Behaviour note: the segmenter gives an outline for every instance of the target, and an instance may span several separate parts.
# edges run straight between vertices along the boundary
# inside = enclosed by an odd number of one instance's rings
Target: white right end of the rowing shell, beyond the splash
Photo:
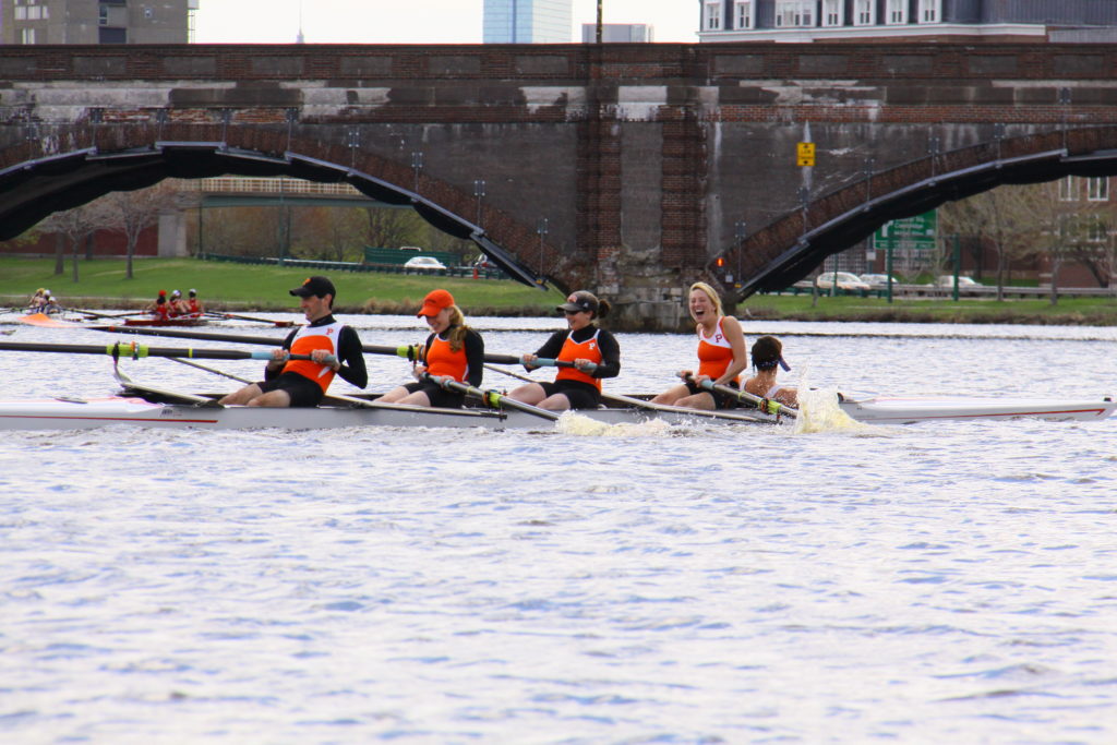
[[[951,397],[846,400],[841,409],[858,421],[878,424],[914,424],[924,421],[1047,419],[1096,421],[1117,409],[1110,399],[1046,401],[1033,399],[962,399]]]

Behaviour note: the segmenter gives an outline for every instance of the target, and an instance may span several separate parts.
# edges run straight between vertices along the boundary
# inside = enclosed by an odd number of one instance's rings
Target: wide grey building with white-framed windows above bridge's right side
[[[1115,0],[699,0],[698,4],[700,41],[1114,41],[1104,31],[1117,27]],[[1102,38],[1094,38],[1099,30]]]

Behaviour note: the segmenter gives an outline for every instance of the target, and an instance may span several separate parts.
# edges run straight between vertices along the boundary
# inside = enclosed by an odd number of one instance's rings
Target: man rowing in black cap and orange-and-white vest
[[[369,384],[364,353],[356,332],[335,321],[337,290],[326,277],[308,277],[290,290],[309,322],[299,326],[274,350],[264,380],[249,383],[221,399],[222,404],[250,407],[316,407],[334,375],[357,388]],[[308,354],[311,360],[289,360],[289,354]]]

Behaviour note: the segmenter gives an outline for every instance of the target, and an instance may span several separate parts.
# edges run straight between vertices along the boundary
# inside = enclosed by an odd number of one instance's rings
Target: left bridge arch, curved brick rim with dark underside
[[[471,240],[525,285],[545,289],[547,279],[560,286],[569,284],[562,277],[534,271],[515,251],[493,240],[486,229],[461,217],[472,209],[472,199],[445,181],[356,147],[293,137],[274,127],[197,128],[200,131],[188,139],[165,139],[147,125],[85,124],[54,130],[46,137],[28,136],[0,150],[0,240],[19,236],[54,212],[169,178],[287,175],[347,183],[378,202],[410,207],[442,232]],[[397,185],[412,179],[416,190]],[[494,208],[486,208],[483,214],[484,222],[499,223],[502,235],[516,245],[531,246],[536,238],[534,230]],[[548,248],[542,246],[536,255]]]

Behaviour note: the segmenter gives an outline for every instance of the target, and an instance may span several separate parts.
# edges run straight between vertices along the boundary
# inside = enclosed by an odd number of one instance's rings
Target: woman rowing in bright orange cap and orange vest
[[[465,394],[443,389],[436,380],[447,378],[477,388],[485,372],[485,342],[466,325],[465,315],[454,296],[445,289],[431,290],[422,302],[418,317],[430,326],[430,336],[419,352],[414,383],[394,388],[380,401],[418,407],[459,409]]]

